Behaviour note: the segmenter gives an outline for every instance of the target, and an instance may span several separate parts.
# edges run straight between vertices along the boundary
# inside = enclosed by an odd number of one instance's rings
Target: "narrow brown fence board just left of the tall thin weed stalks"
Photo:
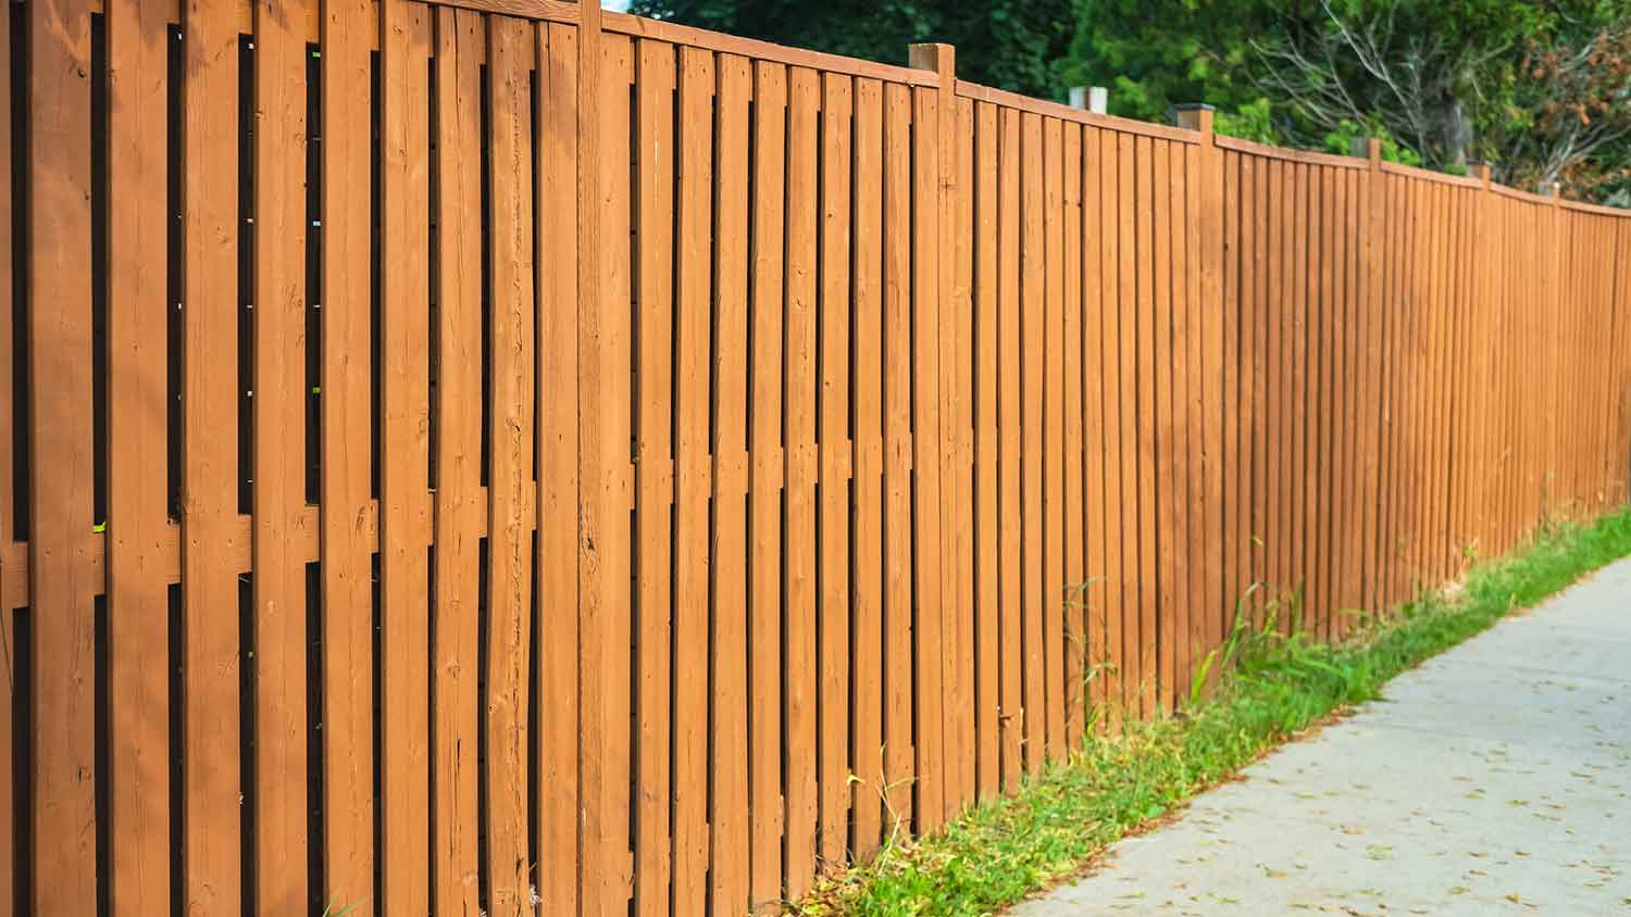
[[[1041,650],[1045,707],[1044,748],[1057,761],[1065,751],[1065,251],[1063,137],[1057,119],[1042,122],[1042,591]]]

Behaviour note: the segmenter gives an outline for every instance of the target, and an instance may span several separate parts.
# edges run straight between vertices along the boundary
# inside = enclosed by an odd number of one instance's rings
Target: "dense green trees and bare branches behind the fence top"
[[[634,0],[641,15],[900,64],[957,46],[959,77],[1111,111],[1218,107],[1228,134],[1631,205],[1631,0]]]

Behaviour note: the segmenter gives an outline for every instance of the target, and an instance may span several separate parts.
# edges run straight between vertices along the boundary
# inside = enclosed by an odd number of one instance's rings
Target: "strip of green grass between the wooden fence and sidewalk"
[[[1070,761],[923,840],[897,839],[873,863],[825,880],[806,917],[990,914],[1080,871],[1119,837],[1228,779],[1269,748],[1515,608],[1631,554],[1631,510],[1551,524],[1512,555],[1476,565],[1453,598],[1434,593],[1331,647],[1236,627],[1212,663],[1220,684],[1186,715],[1090,736]],[[1204,678],[1204,676],[1202,676]]]

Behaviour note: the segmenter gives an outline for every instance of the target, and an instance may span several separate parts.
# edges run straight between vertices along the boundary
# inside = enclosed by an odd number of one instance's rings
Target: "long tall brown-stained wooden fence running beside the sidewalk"
[[[943,46],[5,13],[20,915],[771,906],[1624,498],[1608,210]]]

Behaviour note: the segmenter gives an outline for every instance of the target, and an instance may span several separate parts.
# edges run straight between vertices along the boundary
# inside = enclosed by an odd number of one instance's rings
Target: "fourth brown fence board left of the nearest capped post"
[[[783,555],[783,769],[786,845],[783,897],[801,901],[816,875],[817,811],[817,117],[820,85],[814,70],[788,75],[786,251],[783,264],[783,441],[785,555]]]

